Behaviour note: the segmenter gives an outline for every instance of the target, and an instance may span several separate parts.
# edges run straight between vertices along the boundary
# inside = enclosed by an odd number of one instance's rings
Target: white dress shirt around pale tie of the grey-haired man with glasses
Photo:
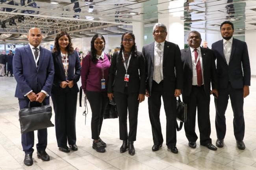
[[[161,80],[163,80],[163,50],[161,52],[161,55],[158,55],[158,42],[155,41],[154,45],[154,71],[153,71],[153,80],[156,81],[156,69],[159,69],[160,67],[160,75]],[[164,49],[165,41],[160,43],[162,46],[162,49]],[[156,60],[160,60],[160,63],[156,62]],[[160,64],[160,65],[159,65]]]

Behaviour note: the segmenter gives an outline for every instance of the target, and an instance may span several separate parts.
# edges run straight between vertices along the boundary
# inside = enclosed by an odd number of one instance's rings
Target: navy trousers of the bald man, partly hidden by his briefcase
[[[29,101],[30,100],[27,97],[25,97],[24,99],[19,98],[20,109],[27,108]],[[43,101],[43,104],[49,105],[49,103],[50,103],[50,100],[48,97],[46,97]],[[41,104],[38,102],[32,102],[30,106],[37,107],[37,106],[41,106]],[[36,145],[37,151],[45,150],[47,146],[47,128],[37,130],[37,139],[38,139],[38,143]],[[33,154],[34,141],[35,141],[34,131],[21,134],[21,144],[25,154]]]

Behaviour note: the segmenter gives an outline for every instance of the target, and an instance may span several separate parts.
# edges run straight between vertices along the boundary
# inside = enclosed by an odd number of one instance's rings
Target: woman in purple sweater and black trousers
[[[91,52],[82,61],[82,89],[91,106],[91,134],[93,149],[105,152],[106,143],[100,139],[103,114],[108,105],[107,82],[110,61],[105,54],[105,39],[101,34],[95,34],[91,40]]]

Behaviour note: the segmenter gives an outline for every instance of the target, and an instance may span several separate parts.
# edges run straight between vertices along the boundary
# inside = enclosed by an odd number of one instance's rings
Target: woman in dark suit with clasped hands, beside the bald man
[[[69,34],[57,34],[53,49],[54,83],[52,103],[55,112],[55,130],[59,150],[70,152],[76,146],[76,101],[79,92],[76,82],[80,78],[81,65],[78,53],[74,51]]]

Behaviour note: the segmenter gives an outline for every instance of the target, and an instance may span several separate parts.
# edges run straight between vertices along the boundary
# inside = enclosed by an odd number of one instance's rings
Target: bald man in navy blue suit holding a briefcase
[[[32,102],[31,107],[39,106],[42,102],[49,105],[54,78],[52,54],[39,45],[42,40],[40,29],[31,28],[27,37],[29,44],[17,48],[13,57],[13,73],[17,81],[15,97],[19,99],[20,109],[26,108],[29,101]],[[47,129],[37,130],[37,137],[37,156],[43,161],[49,161],[50,157],[45,152]],[[21,143],[25,152],[24,164],[31,166],[34,132],[22,134]]]

